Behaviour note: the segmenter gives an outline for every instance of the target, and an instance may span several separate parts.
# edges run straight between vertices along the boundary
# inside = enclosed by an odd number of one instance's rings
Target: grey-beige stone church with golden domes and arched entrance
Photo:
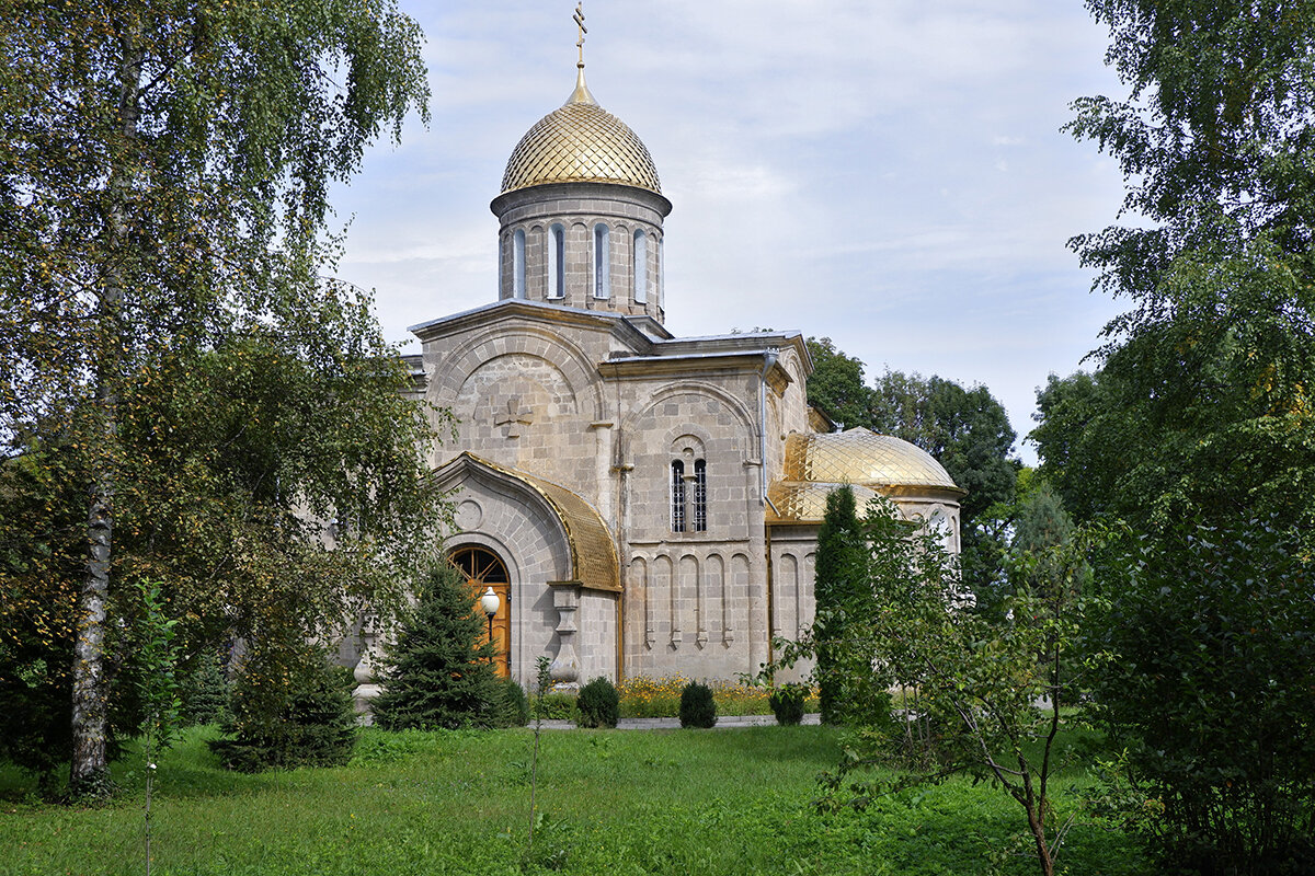
[[[575,91],[521,138],[490,205],[497,301],[413,326],[446,549],[500,596],[500,672],[732,679],[811,621],[827,494],[874,494],[959,548],[963,491],[927,453],[809,407],[797,331],[664,327],[663,197],[635,133]],[[747,294],[747,293],[746,293]],[[368,682],[372,661],[358,667]]]

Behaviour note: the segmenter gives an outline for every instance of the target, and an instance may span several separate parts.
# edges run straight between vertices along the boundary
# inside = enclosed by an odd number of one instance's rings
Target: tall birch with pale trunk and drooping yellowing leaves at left
[[[0,460],[30,475],[0,498],[25,510],[0,553],[30,562],[0,584],[75,649],[74,785],[130,688],[134,582],[168,582],[189,645],[314,634],[394,603],[434,544],[429,423],[368,296],[321,280],[327,193],[423,114],[419,43],[391,0],[0,22]]]

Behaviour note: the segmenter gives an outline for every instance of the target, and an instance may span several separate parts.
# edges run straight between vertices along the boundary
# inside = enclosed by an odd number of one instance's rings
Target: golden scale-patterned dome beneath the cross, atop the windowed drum
[[[589,93],[580,70],[559,109],[526,131],[502,173],[502,193],[548,183],[615,183],[661,194],[648,147]]]

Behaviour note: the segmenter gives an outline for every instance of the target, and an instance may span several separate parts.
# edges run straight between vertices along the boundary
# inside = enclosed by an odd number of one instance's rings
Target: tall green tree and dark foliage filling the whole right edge
[[[1289,746],[1310,735],[1310,691],[1289,679],[1310,659],[1308,584],[1293,594],[1315,532],[1315,13],[1088,8],[1131,95],[1077,101],[1070,130],[1120,163],[1139,225],[1070,246],[1131,309],[1097,374],[1051,380],[1034,440],[1080,521],[1143,537],[1097,566],[1122,654],[1099,693],[1135,787],[1164,805],[1155,847],[1203,872],[1285,855],[1302,872],[1310,754]]]

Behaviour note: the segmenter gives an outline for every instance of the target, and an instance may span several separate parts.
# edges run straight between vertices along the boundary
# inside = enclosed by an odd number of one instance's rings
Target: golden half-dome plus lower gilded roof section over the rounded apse
[[[869,429],[790,435],[785,471],[772,483],[769,523],[814,523],[826,515],[826,498],[842,483],[863,508],[874,495],[964,494],[949,473],[922,448]]]

